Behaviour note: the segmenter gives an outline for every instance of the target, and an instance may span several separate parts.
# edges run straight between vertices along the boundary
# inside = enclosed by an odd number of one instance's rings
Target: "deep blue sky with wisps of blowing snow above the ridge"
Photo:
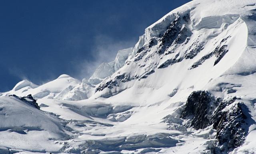
[[[89,77],[144,29],[189,0],[1,0],[0,91]]]

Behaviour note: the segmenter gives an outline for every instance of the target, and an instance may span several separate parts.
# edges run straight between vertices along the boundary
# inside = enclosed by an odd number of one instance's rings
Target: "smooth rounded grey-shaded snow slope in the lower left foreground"
[[[13,96],[0,97],[0,120],[0,149],[58,152],[62,145],[54,140],[69,138],[63,120]]]

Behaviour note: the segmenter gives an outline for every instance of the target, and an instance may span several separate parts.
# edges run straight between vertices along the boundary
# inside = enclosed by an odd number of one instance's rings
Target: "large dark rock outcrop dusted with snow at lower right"
[[[217,130],[214,153],[222,153],[240,146],[248,133],[246,130],[246,105],[215,98],[208,91],[194,91],[188,97],[180,118],[189,119],[187,126],[203,129],[210,125]]]

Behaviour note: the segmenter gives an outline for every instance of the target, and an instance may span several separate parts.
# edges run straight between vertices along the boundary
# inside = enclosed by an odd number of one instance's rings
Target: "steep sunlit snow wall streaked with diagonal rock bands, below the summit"
[[[109,97],[140,87],[154,88],[156,94],[161,91],[162,97],[173,89],[190,93],[231,69],[248,46],[248,26],[240,18],[242,15],[223,12],[225,15],[203,16],[198,20],[194,18],[195,9],[174,10],[147,28],[134,47],[134,55],[96,88],[95,97]]]

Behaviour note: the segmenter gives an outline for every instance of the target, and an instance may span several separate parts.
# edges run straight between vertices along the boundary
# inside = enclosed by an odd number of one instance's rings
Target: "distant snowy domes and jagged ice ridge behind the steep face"
[[[116,59],[110,63],[102,63],[94,71],[89,80],[84,78],[82,81],[79,81],[66,74],[62,74],[57,79],[40,86],[23,80],[17,83],[11,91],[1,93],[0,95],[18,95],[24,97],[31,94],[35,99],[48,98],[70,101],[88,99],[94,94],[96,86],[101,81],[124,66],[126,59],[132,51],[132,47],[119,50]]]

